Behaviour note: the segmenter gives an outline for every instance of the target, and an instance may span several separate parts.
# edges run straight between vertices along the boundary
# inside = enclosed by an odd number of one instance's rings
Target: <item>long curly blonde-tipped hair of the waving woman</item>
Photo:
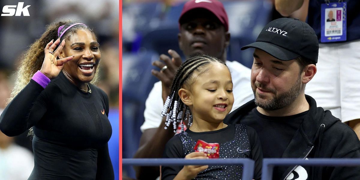
[[[49,24],[46,27],[45,32],[41,35],[39,39],[37,39],[33,44],[29,46],[29,48],[24,52],[22,56],[21,63],[19,64],[18,70],[15,72],[16,81],[14,85],[14,89],[11,92],[10,98],[8,99],[8,103],[10,103],[11,100],[14,99],[14,97],[30,82],[31,77],[41,69],[42,62],[44,61],[44,49],[46,44],[48,44],[52,39],[56,40],[58,39],[58,28],[60,26],[64,25],[64,28],[62,28],[62,31],[60,31],[60,35],[63,33],[63,31],[69,27],[71,24],[74,24],[76,22],[73,22],[71,20],[65,20],[65,21],[59,21]],[[77,30],[88,30],[96,38],[95,33],[92,29],[90,29],[87,26],[73,26],[69,30],[65,32],[64,35],[62,35],[60,42],[62,42],[63,39],[68,40],[72,35],[75,35]],[[97,39],[97,38],[96,38]],[[91,84],[96,84],[96,81],[99,78],[99,67],[97,70],[98,73],[95,74],[93,80],[91,81]],[[32,135],[32,128],[30,128],[29,135]]]

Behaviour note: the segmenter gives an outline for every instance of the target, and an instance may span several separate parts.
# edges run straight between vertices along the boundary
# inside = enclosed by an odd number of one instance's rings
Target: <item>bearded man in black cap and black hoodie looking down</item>
[[[360,158],[355,132],[305,95],[316,73],[319,43],[309,24],[280,18],[256,42],[251,87],[255,99],[230,113],[224,123],[256,130],[264,158]],[[274,179],[360,179],[360,167],[275,168]]]

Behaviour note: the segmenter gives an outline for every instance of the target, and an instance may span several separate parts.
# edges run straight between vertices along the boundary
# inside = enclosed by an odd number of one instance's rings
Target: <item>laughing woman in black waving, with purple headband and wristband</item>
[[[90,83],[100,58],[94,32],[69,21],[50,24],[24,54],[0,130],[33,129],[30,180],[114,179],[109,100]]]

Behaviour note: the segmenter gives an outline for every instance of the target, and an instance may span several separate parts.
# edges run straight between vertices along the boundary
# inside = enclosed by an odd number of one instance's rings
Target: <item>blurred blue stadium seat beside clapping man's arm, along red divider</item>
[[[122,58],[122,157],[132,158],[139,148],[140,126],[144,122],[145,100],[156,77],[151,75],[152,62],[159,55],[150,52],[123,54]],[[124,167],[127,176],[135,178],[132,167]]]

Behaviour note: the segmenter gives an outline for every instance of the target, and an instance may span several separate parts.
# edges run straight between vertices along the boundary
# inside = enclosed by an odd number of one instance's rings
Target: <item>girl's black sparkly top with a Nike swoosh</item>
[[[253,179],[261,178],[262,151],[260,140],[254,129],[242,124],[229,125],[220,130],[207,132],[185,132],[171,138],[165,147],[164,158],[184,158],[194,152],[198,139],[207,143],[219,143],[221,158],[251,158],[255,161]],[[162,166],[161,179],[170,180],[179,173],[184,166]],[[240,165],[212,165],[200,172],[195,179],[229,179],[236,180],[242,177]]]

